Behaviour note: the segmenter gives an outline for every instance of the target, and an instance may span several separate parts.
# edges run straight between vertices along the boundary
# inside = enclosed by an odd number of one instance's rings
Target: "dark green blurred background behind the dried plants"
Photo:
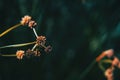
[[[0,0],[0,33],[24,15],[33,17],[38,34],[47,37],[53,50],[39,58],[0,57],[0,80],[106,80],[92,63],[106,49],[120,53],[119,0]],[[1,37],[0,46],[34,40],[33,31],[23,26]],[[28,48],[32,46],[0,53]]]

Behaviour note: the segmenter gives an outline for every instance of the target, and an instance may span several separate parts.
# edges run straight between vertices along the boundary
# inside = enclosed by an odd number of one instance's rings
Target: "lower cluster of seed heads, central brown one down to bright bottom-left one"
[[[26,56],[26,57],[33,57],[33,56],[40,56],[41,55],[41,52],[40,50],[38,49],[38,47],[43,47],[44,48],[44,51],[46,53],[49,53],[51,50],[52,50],[52,47],[49,45],[49,46],[45,46],[45,42],[46,42],[46,38],[45,36],[38,36],[38,38],[36,39],[36,44],[35,46],[31,49],[28,49],[27,51],[22,51],[22,50],[19,50],[16,52],[16,56],[18,59],[22,59],[23,56]],[[35,49],[36,48],[36,49]]]

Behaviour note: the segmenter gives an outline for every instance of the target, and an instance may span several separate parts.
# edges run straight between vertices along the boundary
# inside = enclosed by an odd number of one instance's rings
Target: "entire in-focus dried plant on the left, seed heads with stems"
[[[14,45],[2,46],[2,47],[0,47],[0,49],[8,48],[8,47],[21,47],[21,46],[35,44],[32,49],[28,49],[27,51],[18,50],[15,54],[17,59],[23,59],[24,57],[30,58],[30,57],[34,57],[34,56],[40,56],[41,55],[40,48],[44,48],[44,51],[46,53],[49,53],[52,50],[52,47],[50,45],[49,46],[45,45],[46,44],[46,37],[45,36],[38,36],[38,34],[35,30],[35,26],[37,25],[37,23],[34,20],[32,20],[31,16],[28,16],[28,15],[26,15],[22,18],[22,20],[20,21],[20,24],[17,24],[15,26],[9,28],[8,30],[4,31],[2,34],[0,34],[0,37],[2,37],[3,35],[7,34],[11,30],[13,30],[21,25],[22,26],[27,25],[28,27],[30,27],[33,30],[34,35],[36,36],[36,41],[29,42],[29,43],[23,43],[23,44],[14,44]],[[5,56],[5,55],[2,55],[2,56]]]

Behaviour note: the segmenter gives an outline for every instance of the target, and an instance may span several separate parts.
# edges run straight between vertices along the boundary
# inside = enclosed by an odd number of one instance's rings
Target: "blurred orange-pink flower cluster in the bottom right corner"
[[[104,57],[109,58],[109,60],[106,61],[103,60],[105,63],[111,63],[111,66],[108,69],[104,70],[104,75],[107,78],[107,80],[114,80],[113,71],[115,70],[116,67],[120,69],[120,60],[114,55],[113,49],[109,49],[102,52],[101,55],[99,55],[96,58],[96,61],[100,63],[102,62],[102,59]],[[113,60],[110,59],[111,57],[113,57]]]

